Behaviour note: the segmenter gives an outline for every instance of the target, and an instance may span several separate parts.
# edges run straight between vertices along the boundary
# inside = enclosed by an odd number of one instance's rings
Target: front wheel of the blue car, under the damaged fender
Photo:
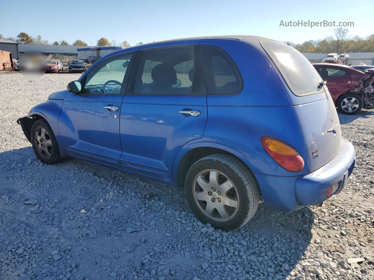
[[[31,143],[38,159],[45,164],[56,164],[62,158],[52,128],[44,119],[38,119],[31,127]]]

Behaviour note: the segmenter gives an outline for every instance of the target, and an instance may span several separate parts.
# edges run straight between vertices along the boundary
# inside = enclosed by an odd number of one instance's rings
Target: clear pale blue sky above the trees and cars
[[[43,40],[105,37],[134,45],[206,35],[258,35],[302,43],[333,35],[334,27],[279,27],[285,21],[353,21],[352,36],[374,33],[374,1],[1,1],[0,34],[26,32]],[[359,4],[356,4],[359,3]],[[14,11],[14,12],[9,12]],[[370,11],[370,13],[367,13]]]

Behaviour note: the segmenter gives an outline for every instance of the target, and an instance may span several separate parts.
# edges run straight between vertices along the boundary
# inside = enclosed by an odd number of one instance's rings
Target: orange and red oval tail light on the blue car
[[[292,172],[304,169],[304,159],[289,144],[268,136],[261,137],[261,144],[269,156],[284,169]]]

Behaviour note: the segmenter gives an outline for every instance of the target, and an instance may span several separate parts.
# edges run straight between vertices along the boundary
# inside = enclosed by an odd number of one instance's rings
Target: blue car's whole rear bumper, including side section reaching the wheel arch
[[[355,167],[355,156],[353,145],[342,140],[338,155],[307,175],[281,177],[255,173],[264,205],[268,209],[288,212],[324,202],[341,192]]]

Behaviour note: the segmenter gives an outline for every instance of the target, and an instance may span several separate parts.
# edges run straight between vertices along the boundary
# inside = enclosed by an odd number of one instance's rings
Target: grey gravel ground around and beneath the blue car
[[[0,279],[374,279],[374,111],[339,115],[356,168],[322,208],[260,204],[229,233],[181,189],[68,159],[43,165],[16,119],[81,74],[0,71]]]

